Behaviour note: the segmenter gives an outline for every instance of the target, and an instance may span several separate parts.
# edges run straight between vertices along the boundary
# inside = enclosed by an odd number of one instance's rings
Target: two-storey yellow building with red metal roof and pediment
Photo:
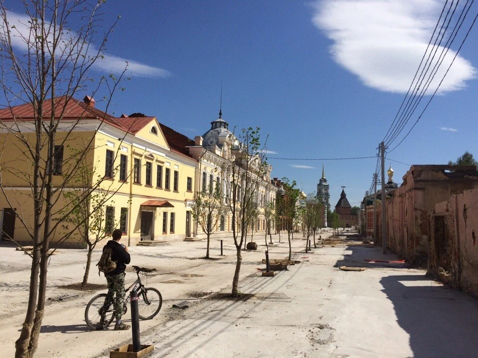
[[[83,101],[67,97],[54,101],[53,116],[51,100],[43,108],[45,121],[61,118],[51,154],[53,170],[43,159],[40,172],[53,173],[57,200],[51,226],[58,240],[75,226],[74,214],[65,216],[65,197],[85,186],[106,200],[102,207],[106,231],[121,229],[129,245],[191,236],[198,161],[186,147],[194,146],[194,141],[155,117],[140,113],[113,117],[96,109],[88,96]],[[33,161],[28,152],[35,139],[33,107],[2,109],[0,120],[1,240],[28,244],[34,222]],[[84,245],[75,231],[62,246]]]

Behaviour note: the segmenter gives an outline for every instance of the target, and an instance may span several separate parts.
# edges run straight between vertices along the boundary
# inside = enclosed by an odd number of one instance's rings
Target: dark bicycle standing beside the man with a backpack
[[[145,287],[141,283],[141,277],[139,273],[143,272],[144,275],[142,276],[145,276],[146,273],[155,271],[156,269],[145,269],[137,266],[132,266],[132,268],[136,271],[138,278],[126,289],[126,292],[129,291],[129,294],[124,299],[123,314],[125,314],[128,310],[127,302],[129,301],[131,291],[135,289],[138,292],[139,318],[141,320],[152,319],[159,313],[163,303],[163,297],[156,288]],[[103,329],[107,328],[115,318],[113,296],[108,293],[100,293],[96,295],[86,305],[85,322],[88,327],[93,330],[99,329],[98,325],[100,324],[102,317],[103,322],[105,322]]]

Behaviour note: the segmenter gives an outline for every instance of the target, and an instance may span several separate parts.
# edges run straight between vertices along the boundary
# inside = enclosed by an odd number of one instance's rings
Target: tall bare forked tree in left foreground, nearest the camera
[[[33,207],[28,217],[24,216],[23,208],[15,214],[33,245],[27,312],[15,342],[15,357],[27,358],[33,357],[38,345],[49,250],[71,237],[79,226],[65,225],[78,203],[68,202],[63,193],[77,174],[76,164],[94,150],[95,135],[89,138],[78,135],[82,118],[91,112],[85,108],[72,118],[70,104],[75,95],[86,91],[94,95],[104,88],[102,95],[108,110],[124,72],[118,78],[111,75],[98,82],[89,75],[95,62],[103,58],[107,37],[116,25],[115,22],[102,29],[104,22],[99,11],[104,1],[21,2],[24,6],[21,16],[0,3],[0,87],[5,101],[0,125],[7,132],[2,146],[14,148],[21,158],[21,162],[16,161],[16,165],[21,163],[20,168],[15,168],[15,162],[1,153],[1,191],[12,209],[19,201],[29,202]],[[73,18],[78,23],[76,31],[70,26]],[[105,84],[106,87],[101,86]],[[20,104],[31,108],[29,119],[15,112]],[[104,120],[99,118],[98,128]],[[83,150],[63,153],[63,148],[73,142],[82,142]],[[13,193],[11,181],[7,182],[13,176],[27,189]],[[87,191],[99,188],[102,179],[93,181]],[[52,217],[57,220],[52,221]]]

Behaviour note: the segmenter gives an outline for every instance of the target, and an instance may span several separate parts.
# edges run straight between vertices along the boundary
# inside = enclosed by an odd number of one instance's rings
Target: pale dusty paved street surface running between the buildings
[[[227,256],[215,261],[199,259],[205,242],[130,248],[131,265],[158,269],[148,285],[164,298],[157,317],[140,321],[141,343],[155,346],[151,357],[477,357],[474,298],[428,279],[423,270],[365,263],[395,257],[361,240],[326,241],[309,254],[304,243],[301,237],[293,241],[294,259],[301,263],[271,278],[257,270],[263,268],[263,247],[243,252],[240,300],[212,294],[230,292],[235,264],[230,243]],[[213,254],[218,250],[215,242]],[[285,258],[287,252],[287,245],[279,244],[270,255]],[[19,268],[20,255],[12,260]],[[48,297],[78,293],[59,285],[80,280],[81,259],[78,251],[52,259]],[[338,269],[344,265],[366,270]],[[2,309],[9,306],[7,296],[23,297],[26,290],[27,271],[7,270],[1,266],[0,284],[12,291],[1,290]],[[103,283],[96,272],[91,277],[92,283]],[[108,357],[111,349],[130,343],[130,331],[87,328],[83,312],[94,293],[47,307],[36,357]],[[189,299],[188,309],[171,308],[182,299]],[[0,316],[1,357],[13,356],[23,314],[20,305]]]

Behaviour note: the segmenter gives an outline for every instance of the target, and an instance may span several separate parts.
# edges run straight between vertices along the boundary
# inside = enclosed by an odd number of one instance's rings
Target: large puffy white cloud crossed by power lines
[[[357,75],[365,86],[406,93],[443,1],[323,0],[314,5],[312,21],[333,41],[330,54],[334,61]],[[455,54],[448,51],[429,91],[438,87]],[[458,56],[440,92],[462,89],[476,75],[470,62]]]

